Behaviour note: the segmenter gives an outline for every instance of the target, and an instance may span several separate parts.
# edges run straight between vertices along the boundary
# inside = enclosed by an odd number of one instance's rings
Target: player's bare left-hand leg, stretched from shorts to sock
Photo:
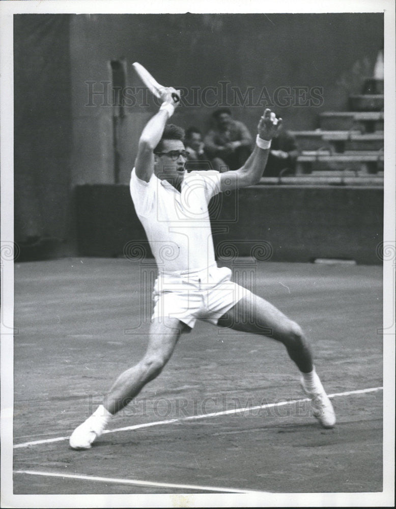
[[[142,388],[162,371],[183,331],[188,327],[176,318],[154,321],[150,326],[149,344],[144,357],[124,371],[111,387],[104,407],[111,414],[124,408]]]

